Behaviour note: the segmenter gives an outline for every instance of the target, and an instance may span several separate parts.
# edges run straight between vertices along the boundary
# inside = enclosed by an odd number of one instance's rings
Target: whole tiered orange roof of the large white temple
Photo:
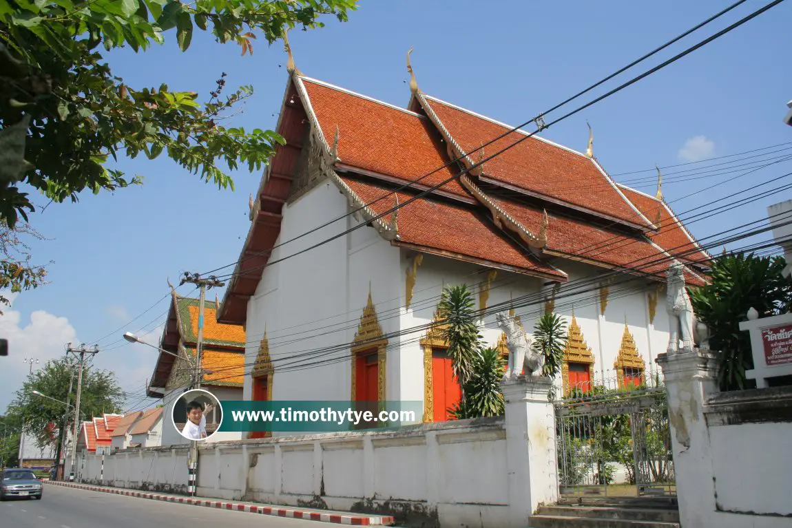
[[[657,281],[665,279],[670,256],[691,248],[695,254],[685,264],[706,263],[665,203],[615,184],[592,156],[524,131],[470,154],[511,127],[425,95],[414,78],[411,89],[408,108],[398,108],[291,70],[276,127],[287,145],[276,146],[261,181],[218,321],[245,323],[247,299],[280,234],[281,209],[295,192],[306,148],[352,207],[366,206],[364,218],[394,246],[558,283],[568,280],[565,260]],[[463,168],[470,171],[455,178]],[[375,218],[432,187],[438,188],[396,215]],[[688,283],[703,284],[703,271],[689,266]]]

